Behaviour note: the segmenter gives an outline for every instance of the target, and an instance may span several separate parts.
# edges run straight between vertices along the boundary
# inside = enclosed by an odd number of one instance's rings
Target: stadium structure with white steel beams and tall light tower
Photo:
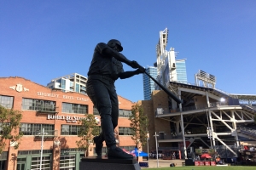
[[[195,74],[195,83],[178,81],[175,59],[166,59],[175,56],[172,48],[165,49],[167,33],[160,31],[157,44],[157,79],[183,103],[161,90],[152,93],[151,101],[140,101],[148,114],[148,133],[157,136],[148,142],[149,149],[157,145],[158,150],[181,150],[185,159],[204,150],[222,158],[256,161],[256,95],[218,90],[216,77],[206,71]]]

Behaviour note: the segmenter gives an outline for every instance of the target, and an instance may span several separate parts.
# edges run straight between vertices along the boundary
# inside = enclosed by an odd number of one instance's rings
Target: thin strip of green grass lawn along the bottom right
[[[150,169],[150,170],[208,170],[208,169],[214,169],[214,170],[243,170],[243,169],[252,169],[255,170],[255,166],[185,166],[185,167],[153,167],[153,168],[142,168],[142,169]]]

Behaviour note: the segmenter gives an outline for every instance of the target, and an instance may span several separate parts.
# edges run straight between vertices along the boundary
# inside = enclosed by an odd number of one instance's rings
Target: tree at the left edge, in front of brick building
[[[0,105],[0,155],[9,141],[15,144],[15,150],[19,148],[19,141],[23,136],[18,131],[21,118],[21,111],[7,109]]]

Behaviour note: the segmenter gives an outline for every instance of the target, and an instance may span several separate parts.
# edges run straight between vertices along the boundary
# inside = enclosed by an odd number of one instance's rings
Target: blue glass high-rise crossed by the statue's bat
[[[146,72],[156,79],[157,77],[157,68],[154,66],[148,66]],[[154,82],[146,74],[143,74],[143,92],[144,100],[151,99],[151,93],[154,90]]]

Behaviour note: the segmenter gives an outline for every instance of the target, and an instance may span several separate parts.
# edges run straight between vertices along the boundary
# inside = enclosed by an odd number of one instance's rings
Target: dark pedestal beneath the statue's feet
[[[79,170],[141,170],[136,159],[114,159],[107,156],[88,156],[80,161]]]

